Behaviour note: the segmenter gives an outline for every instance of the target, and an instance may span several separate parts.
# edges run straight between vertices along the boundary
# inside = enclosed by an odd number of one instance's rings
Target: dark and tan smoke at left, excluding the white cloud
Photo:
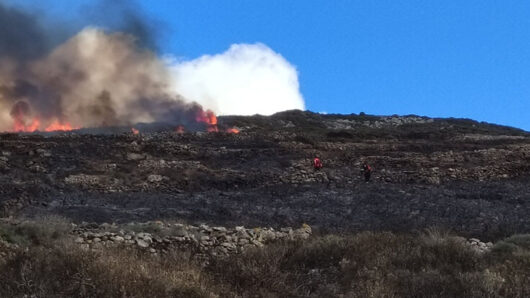
[[[78,20],[91,26],[68,38],[44,19],[0,4],[0,131],[34,119],[40,129],[194,119],[154,53],[162,26],[134,1],[91,3]]]

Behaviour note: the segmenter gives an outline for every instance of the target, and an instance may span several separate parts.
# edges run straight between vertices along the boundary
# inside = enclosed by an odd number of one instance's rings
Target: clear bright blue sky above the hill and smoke
[[[5,2],[71,21],[90,3]],[[296,66],[312,111],[465,117],[530,130],[530,1],[138,3],[163,24],[163,53],[192,59],[234,43],[268,45]]]

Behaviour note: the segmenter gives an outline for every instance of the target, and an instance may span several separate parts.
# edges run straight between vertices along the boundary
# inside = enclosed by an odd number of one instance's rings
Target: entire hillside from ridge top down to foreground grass
[[[219,125],[241,133],[0,135],[0,297],[530,297],[527,132],[302,111]],[[46,214],[85,223],[16,219]],[[285,228],[303,222],[318,236]]]

